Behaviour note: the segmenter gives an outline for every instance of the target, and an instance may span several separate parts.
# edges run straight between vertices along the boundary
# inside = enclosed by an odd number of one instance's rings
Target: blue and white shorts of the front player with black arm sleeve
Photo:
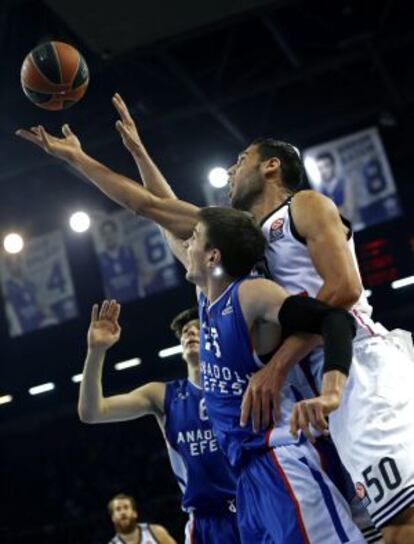
[[[237,514],[243,544],[362,544],[347,501],[305,441],[252,455],[241,467]]]

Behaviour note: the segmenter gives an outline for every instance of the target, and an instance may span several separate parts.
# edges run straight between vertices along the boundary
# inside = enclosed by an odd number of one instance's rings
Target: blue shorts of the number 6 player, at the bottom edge
[[[214,514],[193,512],[185,526],[185,544],[240,544],[240,542],[234,507]]]

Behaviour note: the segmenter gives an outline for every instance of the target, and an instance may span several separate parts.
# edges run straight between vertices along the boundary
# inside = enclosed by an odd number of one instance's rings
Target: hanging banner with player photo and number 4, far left
[[[78,309],[60,232],[35,238],[0,259],[1,289],[10,336],[57,325]]]

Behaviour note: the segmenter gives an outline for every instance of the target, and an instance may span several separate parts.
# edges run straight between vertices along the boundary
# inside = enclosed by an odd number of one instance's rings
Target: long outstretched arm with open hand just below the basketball
[[[197,223],[198,208],[177,199],[161,199],[133,180],[114,172],[88,156],[79,139],[68,125],[62,128],[64,138],[48,134],[42,126],[17,135],[36,144],[44,151],[64,160],[89,179],[98,189],[124,208],[152,219],[179,238],[188,238]]]

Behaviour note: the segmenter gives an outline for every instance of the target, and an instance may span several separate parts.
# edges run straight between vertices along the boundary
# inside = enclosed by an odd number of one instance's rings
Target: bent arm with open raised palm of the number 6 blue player
[[[92,308],[88,330],[88,353],[80,385],[78,413],[84,423],[126,421],[146,414],[161,415],[165,385],[149,383],[124,395],[104,397],[102,369],[107,350],[118,342],[120,305],[105,300]]]

